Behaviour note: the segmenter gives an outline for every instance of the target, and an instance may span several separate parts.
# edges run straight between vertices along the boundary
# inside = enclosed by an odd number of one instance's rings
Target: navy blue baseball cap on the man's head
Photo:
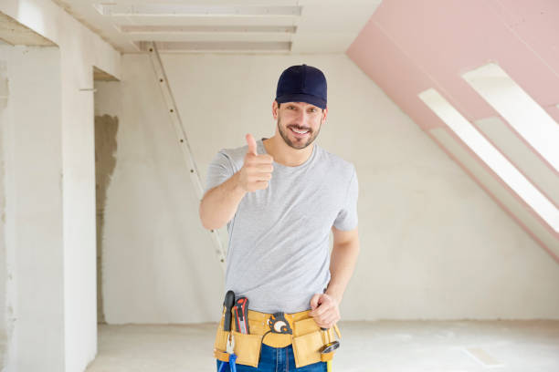
[[[326,78],[316,67],[291,66],[285,69],[278,80],[276,101],[307,102],[326,109]]]

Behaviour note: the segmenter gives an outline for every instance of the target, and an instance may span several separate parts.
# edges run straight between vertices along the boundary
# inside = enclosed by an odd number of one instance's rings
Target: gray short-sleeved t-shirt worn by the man
[[[258,154],[267,153],[262,140]],[[239,171],[247,150],[248,145],[219,150],[207,171],[206,191]],[[332,225],[357,227],[357,174],[352,163],[316,142],[301,165],[274,161],[273,167],[269,187],[248,192],[227,222],[225,292],[246,296],[251,310],[297,313],[310,309],[312,295],[330,282]]]

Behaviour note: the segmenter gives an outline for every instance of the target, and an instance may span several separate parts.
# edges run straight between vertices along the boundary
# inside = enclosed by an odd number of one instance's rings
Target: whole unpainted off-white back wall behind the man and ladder
[[[270,137],[280,72],[307,63],[328,78],[319,144],[360,181],[362,253],[344,320],[559,318],[559,267],[344,55],[163,55],[203,180],[221,148]],[[223,274],[148,57],[122,58],[117,164],[108,190],[108,323],[216,321]],[[121,100],[120,105],[114,102]],[[99,100],[98,100],[99,101]],[[222,230],[223,242],[227,233]]]

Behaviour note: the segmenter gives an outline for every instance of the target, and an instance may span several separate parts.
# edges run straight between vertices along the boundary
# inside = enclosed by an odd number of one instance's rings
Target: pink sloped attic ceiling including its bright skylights
[[[550,0],[387,0],[347,55],[559,263],[557,19]]]

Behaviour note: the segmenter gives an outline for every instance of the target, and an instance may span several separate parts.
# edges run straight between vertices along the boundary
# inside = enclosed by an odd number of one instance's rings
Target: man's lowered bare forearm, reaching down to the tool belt
[[[326,294],[334,297],[338,304],[342,302],[345,287],[349,283],[357,256],[359,255],[359,240],[355,239],[349,243],[334,244],[330,258],[330,283]]]

